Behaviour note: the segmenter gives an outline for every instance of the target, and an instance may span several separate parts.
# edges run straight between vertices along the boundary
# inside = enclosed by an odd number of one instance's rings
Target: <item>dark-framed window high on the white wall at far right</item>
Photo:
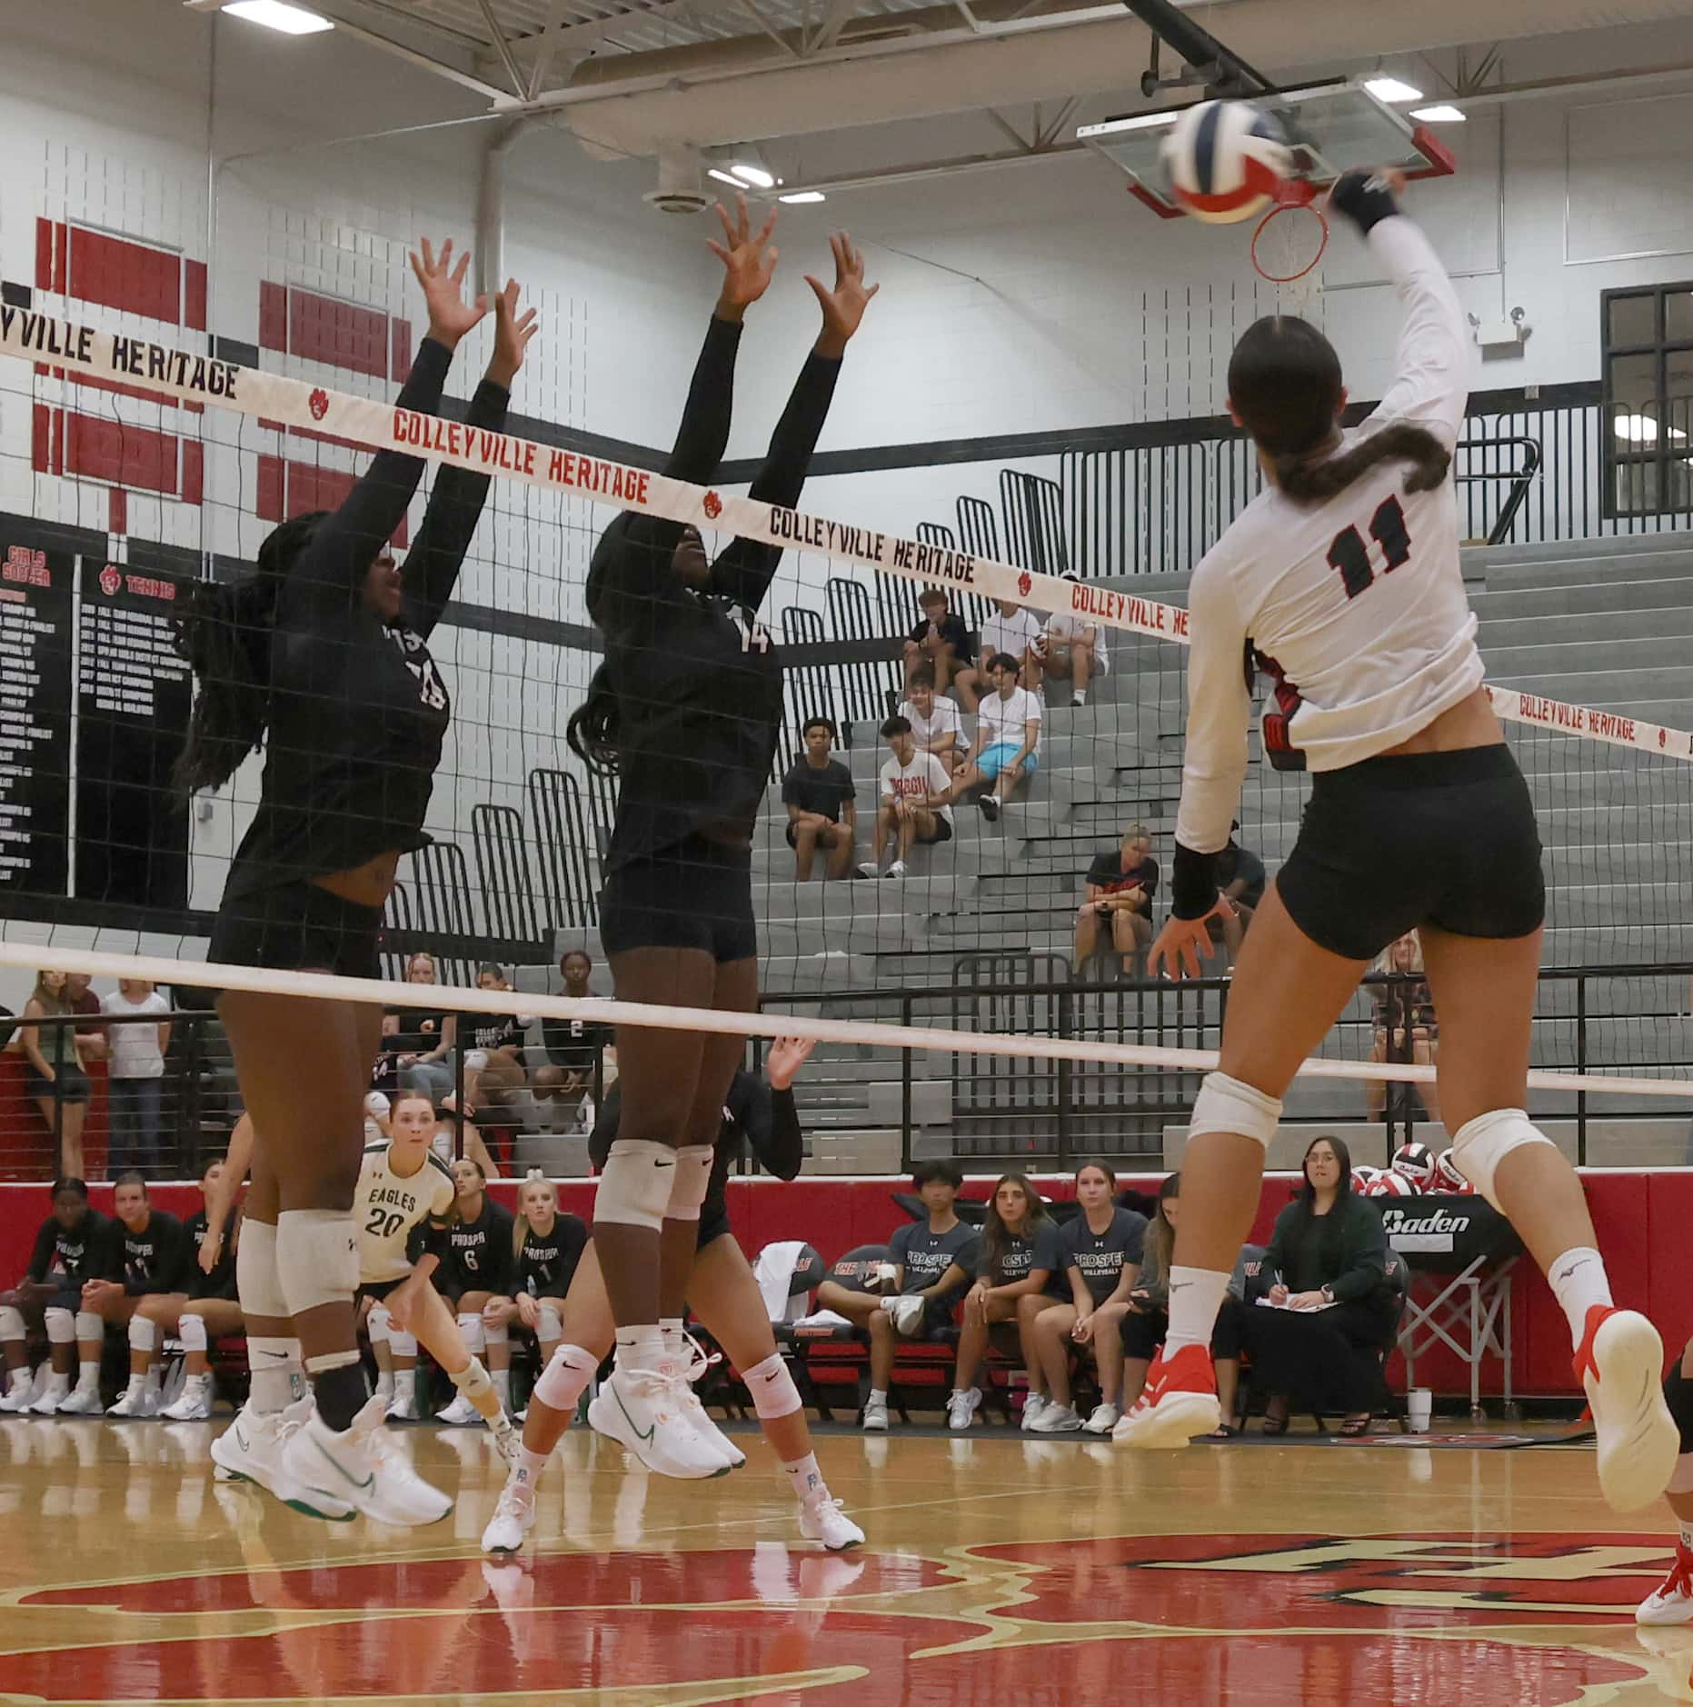
[[[1693,510],[1693,282],[1606,290],[1606,516]]]

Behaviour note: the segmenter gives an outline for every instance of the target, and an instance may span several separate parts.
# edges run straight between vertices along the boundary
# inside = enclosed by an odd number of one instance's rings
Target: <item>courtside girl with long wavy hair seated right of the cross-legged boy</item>
[[[1022,1366],[1034,1362],[1029,1328],[1041,1299],[1062,1282],[1058,1224],[1046,1214],[1034,1186],[1019,1174],[1002,1174],[981,1227],[976,1284],[964,1296],[947,1427],[968,1429],[981,1403],[976,1376],[990,1342],[1017,1349]]]

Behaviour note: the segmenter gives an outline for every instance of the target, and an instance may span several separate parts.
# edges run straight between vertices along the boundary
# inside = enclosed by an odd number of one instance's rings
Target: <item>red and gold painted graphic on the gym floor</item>
[[[270,1702],[715,1683],[712,1700],[1060,1707],[1126,1687],[1183,1707],[1565,1707],[1655,1683],[1688,1700],[1693,1632],[1637,1639],[1630,1617],[1666,1557],[1642,1535],[1442,1533],[1012,1543],[945,1560],[778,1543],[249,1560],[19,1596],[84,1608],[85,1632],[5,1656],[0,1692]]]

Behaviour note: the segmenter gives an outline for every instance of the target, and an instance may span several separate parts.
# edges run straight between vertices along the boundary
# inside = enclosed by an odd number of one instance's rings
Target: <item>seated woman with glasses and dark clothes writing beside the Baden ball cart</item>
[[[1379,1359],[1399,1318],[1388,1279],[1381,1210],[1352,1190],[1352,1154],[1340,1139],[1312,1139],[1306,1183],[1275,1219],[1265,1250],[1275,1309],[1239,1313],[1253,1381],[1271,1395],[1265,1434],[1285,1434],[1289,1400],[1345,1413],[1343,1436],[1367,1434]]]

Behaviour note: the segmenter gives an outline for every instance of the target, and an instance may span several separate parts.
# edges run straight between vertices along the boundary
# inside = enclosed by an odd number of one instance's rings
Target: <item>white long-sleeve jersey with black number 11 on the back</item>
[[[1410,312],[1393,386],[1345,444],[1411,422],[1452,446],[1469,396],[1457,295],[1403,215],[1381,220],[1369,244]],[[1193,572],[1181,847],[1215,854],[1229,842],[1251,724],[1248,647],[1275,678],[1265,751],[1294,768],[1374,758],[1481,685],[1452,481],[1406,493],[1405,475],[1403,461],[1382,463],[1316,505],[1266,486]]]

